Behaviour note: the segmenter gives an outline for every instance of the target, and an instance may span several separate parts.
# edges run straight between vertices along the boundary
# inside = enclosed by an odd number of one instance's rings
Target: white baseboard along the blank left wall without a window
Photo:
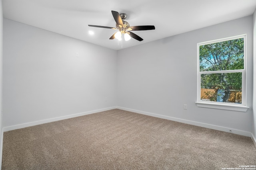
[[[53,122],[53,121],[69,119],[69,118],[83,116],[83,115],[89,115],[89,114],[92,114],[92,113],[98,113],[98,112],[101,112],[101,111],[107,111],[107,110],[111,110],[111,109],[116,109],[116,107],[108,107],[108,108],[104,108],[104,109],[86,111],[86,112],[83,112],[83,113],[76,113],[76,114],[72,114],[72,115],[66,115],[66,116],[55,117],[55,118],[51,118],[51,119],[44,119],[44,120],[40,120],[40,121],[34,121],[34,122],[23,123],[23,124],[19,124],[19,125],[3,127],[3,132],[12,131],[12,130],[15,130],[15,129],[21,129],[21,128],[24,128],[24,127],[30,127],[30,126],[34,126],[34,125],[40,125],[40,124],[43,124],[43,123],[49,123],[49,122]]]

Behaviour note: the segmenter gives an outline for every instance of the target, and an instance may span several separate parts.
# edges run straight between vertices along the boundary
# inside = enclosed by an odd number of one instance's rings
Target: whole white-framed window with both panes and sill
[[[199,107],[246,111],[246,35],[198,43]]]

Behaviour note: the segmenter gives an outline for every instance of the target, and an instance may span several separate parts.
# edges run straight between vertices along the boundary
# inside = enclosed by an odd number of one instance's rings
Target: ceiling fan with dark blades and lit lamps
[[[131,31],[144,31],[144,30],[151,30],[155,29],[154,25],[141,25],[141,26],[130,26],[130,24],[127,21],[124,21],[127,17],[126,14],[119,14],[116,11],[111,11],[112,15],[114,17],[114,20],[116,21],[116,27],[106,27],[106,26],[99,26],[99,25],[88,25],[90,27],[100,27],[100,28],[109,28],[109,29],[118,29],[119,31],[114,33],[109,39],[122,39],[122,34],[124,34],[124,39],[128,41],[131,37],[142,41],[143,39],[136,35],[135,33],[132,33]]]

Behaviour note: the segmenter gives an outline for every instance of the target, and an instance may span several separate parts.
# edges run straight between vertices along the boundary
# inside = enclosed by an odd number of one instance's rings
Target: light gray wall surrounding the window
[[[253,17],[248,16],[119,50],[117,106],[138,113],[223,131],[232,129],[235,133],[250,135],[252,21]],[[250,109],[239,112],[197,107],[197,43],[242,34],[247,34],[246,97]],[[187,110],[183,109],[184,104],[187,104]]]

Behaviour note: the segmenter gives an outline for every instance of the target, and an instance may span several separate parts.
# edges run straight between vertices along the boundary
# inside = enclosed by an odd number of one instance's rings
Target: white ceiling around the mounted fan
[[[2,0],[4,18],[74,37],[114,50],[162,39],[252,15],[256,0]],[[130,26],[155,25],[132,31],[143,41],[109,38],[115,27],[111,10],[126,13]],[[94,35],[88,32],[93,31]]]

